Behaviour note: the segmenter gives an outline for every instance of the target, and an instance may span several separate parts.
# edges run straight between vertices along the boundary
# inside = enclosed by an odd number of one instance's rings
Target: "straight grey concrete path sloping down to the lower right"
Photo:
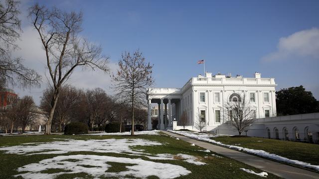
[[[218,154],[224,155],[226,157],[237,160],[239,162],[245,163],[247,165],[253,166],[260,170],[275,174],[285,179],[319,179],[319,174],[315,172],[310,172],[308,170],[303,170],[297,167],[281,164],[268,159],[263,159],[260,157],[256,157],[246,153],[227,149],[227,148],[209,144],[206,142],[198,141],[195,139],[190,139],[188,137],[178,135],[175,133],[171,133],[167,131],[161,131],[161,132],[174,136],[176,138],[179,138],[180,140],[186,141],[188,143],[195,144],[199,147],[216,152]]]

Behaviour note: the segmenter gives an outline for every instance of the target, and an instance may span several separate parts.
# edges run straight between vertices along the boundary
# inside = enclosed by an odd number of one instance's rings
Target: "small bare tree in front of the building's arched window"
[[[252,110],[252,106],[245,93],[242,95],[237,94],[228,101],[224,101],[222,118],[225,123],[235,127],[239,135],[241,135],[242,132],[254,123],[256,112]]]

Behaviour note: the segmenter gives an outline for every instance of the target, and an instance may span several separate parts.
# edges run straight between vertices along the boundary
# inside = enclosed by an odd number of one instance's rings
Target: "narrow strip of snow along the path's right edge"
[[[291,160],[291,159],[288,159],[286,157],[282,157],[282,156],[279,156],[279,155],[276,155],[276,154],[271,154],[271,153],[268,153],[268,152],[263,151],[263,150],[254,150],[254,149],[248,149],[248,148],[234,146],[234,145],[227,145],[227,144],[223,144],[221,142],[217,142],[215,140],[209,139],[210,137],[217,137],[218,136],[218,135],[215,135],[215,134],[203,134],[203,133],[198,133],[198,132],[173,131],[173,130],[167,130],[167,131],[172,132],[172,133],[176,133],[176,134],[180,134],[180,135],[184,135],[184,136],[187,136],[187,137],[192,138],[192,139],[197,139],[197,140],[210,142],[210,143],[217,144],[217,145],[220,145],[220,146],[223,146],[223,147],[227,147],[227,148],[230,148],[230,149],[236,149],[236,150],[239,150],[239,151],[245,151],[245,152],[248,152],[248,153],[251,153],[251,154],[255,154],[255,155],[258,155],[258,156],[262,156],[262,157],[266,157],[266,158],[269,158],[269,159],[274,159],[274,160],[278,160],[278,161],[282,161],[282,162],[287,162],[287,163],[290,163],[290,164],[299,165],[299,166],[302,166],[302,167],[315,169],[315,170],[319,171],[319,166],[316,166],[316,165],[311,165],[309,163],[301,162],[301,161],[298,161],[298,160]]]

